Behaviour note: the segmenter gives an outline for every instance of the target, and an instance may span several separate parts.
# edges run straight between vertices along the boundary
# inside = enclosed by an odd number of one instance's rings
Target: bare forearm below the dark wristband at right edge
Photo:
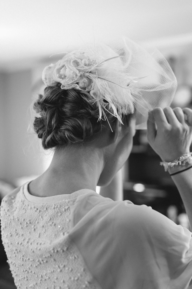
[[[191,164],[186,166],[189,167]],[[182,169],[185,169],[184,167]],[[173,173],[173,172],[171,172]],[[171,176],[181,195],[186,214],[192,229],[192,168]]]

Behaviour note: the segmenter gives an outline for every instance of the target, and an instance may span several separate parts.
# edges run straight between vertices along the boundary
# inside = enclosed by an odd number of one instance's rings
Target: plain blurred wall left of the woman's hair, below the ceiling
[[[27,132],[31,105],[31,71],[0,74],[0,178],[43,172],[40,140]]]

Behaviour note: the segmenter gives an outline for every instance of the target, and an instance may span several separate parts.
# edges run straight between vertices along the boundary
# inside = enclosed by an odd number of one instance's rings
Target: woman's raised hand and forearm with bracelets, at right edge
[[[157,107],[152,111],[155,123],[147,121],[147,139],[160,156],[181,195],[192,229],[192,110]],[[187,169],[187,170],[185,170]]]

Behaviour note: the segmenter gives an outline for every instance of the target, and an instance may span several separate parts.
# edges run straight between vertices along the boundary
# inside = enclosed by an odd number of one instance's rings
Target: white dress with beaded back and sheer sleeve
[[[3,198],[1,234],[17,288],[191,289],[192,234],[146,205],[85,189]]]

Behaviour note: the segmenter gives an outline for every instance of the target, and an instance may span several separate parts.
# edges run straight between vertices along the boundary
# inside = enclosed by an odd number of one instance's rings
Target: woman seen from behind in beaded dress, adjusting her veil
[[[54,156],[1,204],[17,288],[192,288],[188,229],[151,207],[95,192],[111,183],[136,129],[147,126],[192,228],[192,110],[168,107],[176,80],[166,60],[124,39],[66,53],[42,78],[34,130]]]

